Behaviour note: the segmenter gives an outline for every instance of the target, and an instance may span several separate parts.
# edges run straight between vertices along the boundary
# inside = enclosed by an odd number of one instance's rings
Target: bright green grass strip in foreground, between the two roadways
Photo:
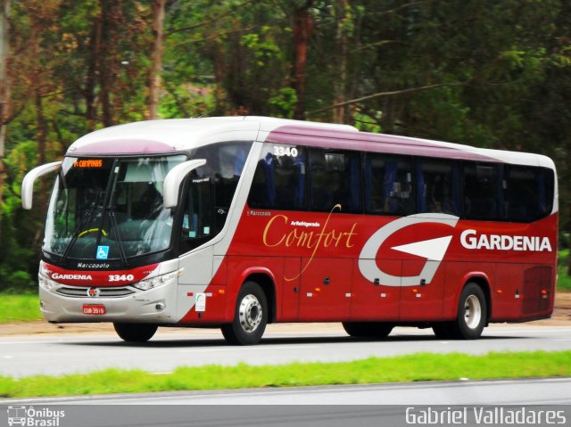
[[[418,353],[340,363],[206,365],[170,374],[105,369],[90,374],[0,376],[0,396],[28,398],[173,390],[224,390],[382,382],[571,376],[571,351],[501,352],[484,356]]]

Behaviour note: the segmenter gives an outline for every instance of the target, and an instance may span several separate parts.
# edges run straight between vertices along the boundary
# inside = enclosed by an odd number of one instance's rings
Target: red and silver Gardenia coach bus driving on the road
[[[395,325],[478,338],[553,310],[558,188],[544,156],[261,117],[170,119],[79,138],[46,218],[39,298],[51,323]]]

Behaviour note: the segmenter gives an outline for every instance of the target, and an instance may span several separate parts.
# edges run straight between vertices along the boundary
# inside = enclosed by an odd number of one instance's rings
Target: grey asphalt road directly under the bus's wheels
[[[0,375],[86,373],[107,367],[168,373],[180,365],[283,364],[347,361],[417,352],[484,354],[505,350],[571,349],[571,327],[496,325],[477,341],[441,341],[431,330],[395,328],[385,341],[358,341],[340,327],[275,325],[257,346],[232,347],[218,330],[165,329],[145,344],[112,333],[0,337]]]

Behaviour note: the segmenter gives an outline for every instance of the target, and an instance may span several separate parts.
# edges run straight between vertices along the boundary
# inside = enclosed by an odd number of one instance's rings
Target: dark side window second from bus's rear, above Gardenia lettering
[[[464,216],[468,219],[503,220],[503,177],[500,165],[464,164]]]

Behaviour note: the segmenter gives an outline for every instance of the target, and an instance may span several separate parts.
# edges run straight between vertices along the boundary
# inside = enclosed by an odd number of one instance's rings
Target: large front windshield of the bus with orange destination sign
[[[162,185],[185,155],[66,157],[47,212],[43,250],[63,259],[107,260],[167,250],[173,212]]]

